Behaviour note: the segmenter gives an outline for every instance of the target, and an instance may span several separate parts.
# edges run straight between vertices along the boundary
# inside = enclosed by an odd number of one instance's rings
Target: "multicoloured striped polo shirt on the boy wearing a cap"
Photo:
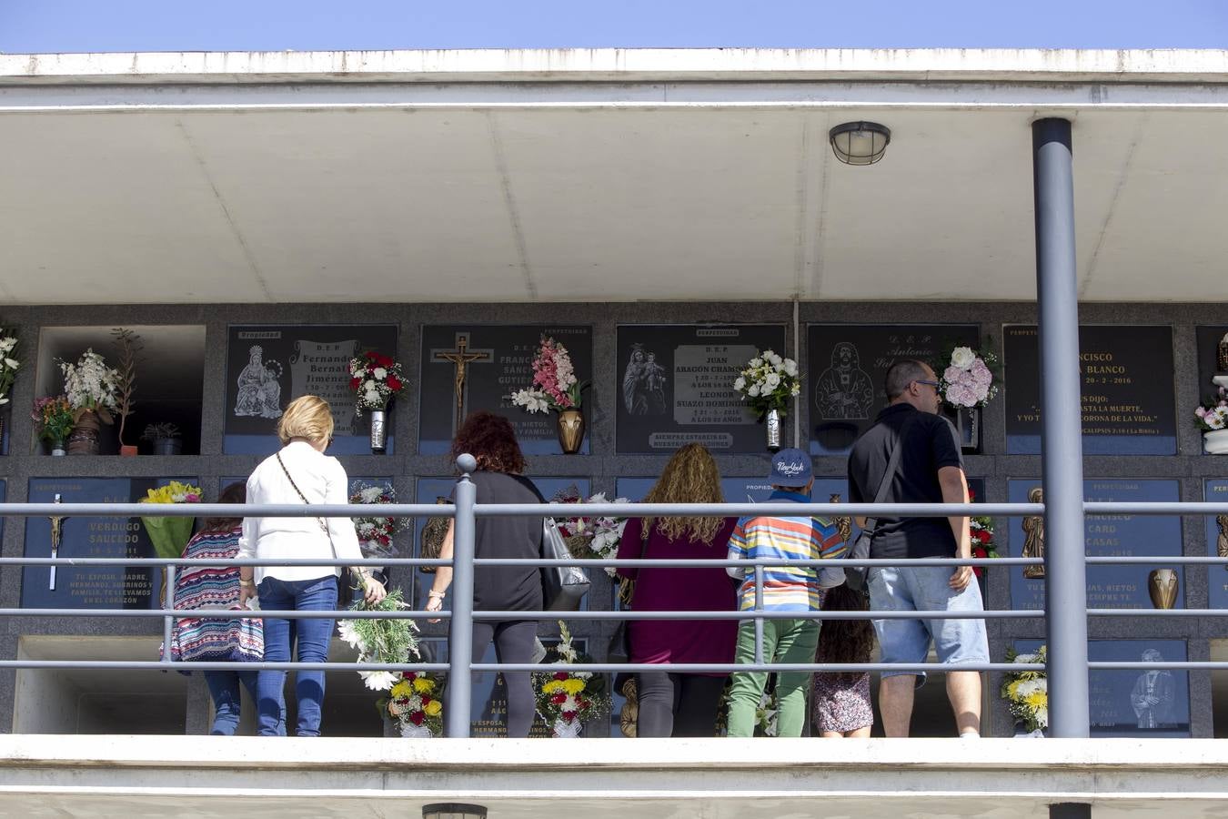
[[[774,491],[768,499],[769,503],[782,501],[809,503],[810,499],[782,490]],[[729,538],[729,560],[825,560],[842,557],[847,549],[835,522],[822,517],[744,517],[738,519]],[[818,572],[814,566],[764,567],[764,609],[818,611],[823,603]],[[738,597],[739,610],[755,608],[753,571],[747,572]]]

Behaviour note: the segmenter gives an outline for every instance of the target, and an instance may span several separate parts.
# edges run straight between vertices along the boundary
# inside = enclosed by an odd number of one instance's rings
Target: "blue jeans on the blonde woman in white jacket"
[[[258,589],[260,608],[270,611],[324,611],[336,608],[336,576],[284,581],[265,577]],[[332,618],[295,620],[298,662],[328,662],[328,646],[333,639]],[[270,663],[290,661],[291,623],[280,618],[264,618],[264,659]],[[285,712],[286,673],[263,670],[257,681],[257,711],[262,737],[276,737],[278,724]],[[324,672],[295,673],[295,695],[298,701],[300,737],[319,736],[321,704],[324,701]]]

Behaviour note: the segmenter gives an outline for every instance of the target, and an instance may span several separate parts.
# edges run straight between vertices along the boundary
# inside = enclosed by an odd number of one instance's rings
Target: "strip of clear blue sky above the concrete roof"
[[[0,52],[1224,48],[1223,0],[0,0]]]

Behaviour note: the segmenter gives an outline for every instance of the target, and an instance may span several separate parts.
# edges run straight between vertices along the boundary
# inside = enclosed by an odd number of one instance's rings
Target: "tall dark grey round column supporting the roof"
[[[1045,494],[1045,614],[1049,718],[1054,737],[1088,736],[1087,561],[1083,429],[1074,266],[1071,124],[1032,124],[1040,334],[1041,481]]]

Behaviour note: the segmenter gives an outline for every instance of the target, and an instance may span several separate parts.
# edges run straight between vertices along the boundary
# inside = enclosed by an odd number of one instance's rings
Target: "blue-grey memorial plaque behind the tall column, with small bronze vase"
[[[1039,480],[1011,479],[1011,503],[1032,502]],[[1093,479],[1083,481],[1088,501],[1176,501],[1176,480]],[[1011,518],[1009,557],[1044,556],[1045,530],[1040,516]],[[1164,556],[1181,555],[1181,519],[1156,514],[1088,514],[1083,524],[1088,556],[1156,556],[1153,565],[1095,565],[1087,567],[1087,605],[1093,609],[1157,608],[1148,591],[1152,570],[1175,570],[1178,583],[1170,608],[1185,607],[1185,582],[1179,566],[1165,566]],[[1001,553],[1001,548],[1000,548]],[[1045,580],[1025,576],[1023,566],[1011,566],[1011,608],[1044,609]]]

